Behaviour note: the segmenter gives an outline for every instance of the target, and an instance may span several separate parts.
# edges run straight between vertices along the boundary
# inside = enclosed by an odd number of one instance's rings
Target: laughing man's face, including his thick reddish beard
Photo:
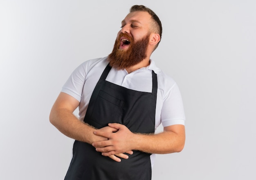
[[[125,69],[138,64],[147,57],[151,17],[147,12],[129,13],[122,21],[112,53],[108,56],[110,65]]]

